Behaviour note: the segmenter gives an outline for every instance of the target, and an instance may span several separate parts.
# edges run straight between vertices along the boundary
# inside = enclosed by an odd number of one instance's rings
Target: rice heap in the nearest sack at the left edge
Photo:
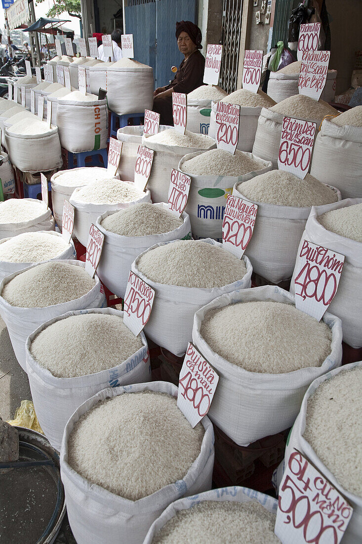
[[[83,267],[49,261],[17,274],[0,294],[11,306],[46,308],[79,299],[95,285]]]

